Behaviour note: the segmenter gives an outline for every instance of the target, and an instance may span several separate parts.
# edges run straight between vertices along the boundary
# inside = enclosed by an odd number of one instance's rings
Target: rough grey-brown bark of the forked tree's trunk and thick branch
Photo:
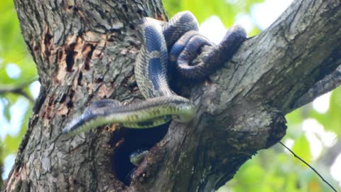
[[[122,150],[129,154],[129,141],[153,140],[153,131],[162,135],[162,127],[61,133],[92,101],[142,98],[133,71],[140,45],[136,22],[142,16],[165,20],[161,1],[16,0],[42,86],[5,190],[219,188],[257,150],[283,137],[284,114],[300,107],[298,98],[341,64],[340,7],[340,1],[295,1],[210,80],[183,85],[197,116],[189,124],[171,123],[126,186],[119,171]]]

